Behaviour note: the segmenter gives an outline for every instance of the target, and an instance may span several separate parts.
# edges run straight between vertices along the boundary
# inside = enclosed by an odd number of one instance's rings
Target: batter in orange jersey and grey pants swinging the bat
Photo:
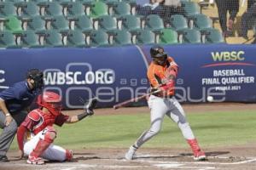
[[[194,153],[194,159],[197,161],[205,160],[206,155],[195,139],[189,122],[186,120],[185,112],[174,97],[175,79],[178,71],[177,64],[160,46],[150,48],[150,54],[153,61],[148,67],[148,81],[151,85],[151,91],[156,90],[159,93],[150,95],[148,99],[151,126],[131,145],[125,154],[125,158],[127,160],[134,159],[136,150],[160,132],[166,115],[177,123],[184,139],[187,140]]]

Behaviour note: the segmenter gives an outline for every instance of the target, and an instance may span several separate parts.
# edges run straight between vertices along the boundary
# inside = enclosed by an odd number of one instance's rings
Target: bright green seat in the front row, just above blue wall
[[[169,28],[162,29],[160,31],[160,38],[159,42],[160,44],[175,44],[177,42],[177,31],[174,31]]]

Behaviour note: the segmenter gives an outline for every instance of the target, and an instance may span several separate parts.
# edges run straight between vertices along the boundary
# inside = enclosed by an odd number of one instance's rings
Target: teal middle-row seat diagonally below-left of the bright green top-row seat
[[[93,23],[89,16],[82,15],[82,16],[74,16],[68,18],[69,26],[71,29],[79,29],[81,31],[91,31],[93,30]]]

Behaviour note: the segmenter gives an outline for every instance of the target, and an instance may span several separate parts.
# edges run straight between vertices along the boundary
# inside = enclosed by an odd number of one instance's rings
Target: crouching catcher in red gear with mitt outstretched
[[[61,113],[61,96],[54,92],[45,91],[38,96],[38,109],[28,113],[17,132],[20,148],[20,158],[28,156],[29,164],[44,164],[42,158],[49,161],[71,161],[72,150],[65,150],[53,144],[56,131],[53,125],[79,122],[86,116],[94,114],[96,98],[90,99],[84,106],[84,112],[77,116],[66,116]]]

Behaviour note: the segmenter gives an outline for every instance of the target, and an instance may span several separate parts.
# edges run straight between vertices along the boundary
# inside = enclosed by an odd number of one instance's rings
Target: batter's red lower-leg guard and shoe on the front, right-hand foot
[[[196,139],[187,139],[187,141],[193,150],[195,161],[204,161],[207,159],[205,152],[201,150]]]

